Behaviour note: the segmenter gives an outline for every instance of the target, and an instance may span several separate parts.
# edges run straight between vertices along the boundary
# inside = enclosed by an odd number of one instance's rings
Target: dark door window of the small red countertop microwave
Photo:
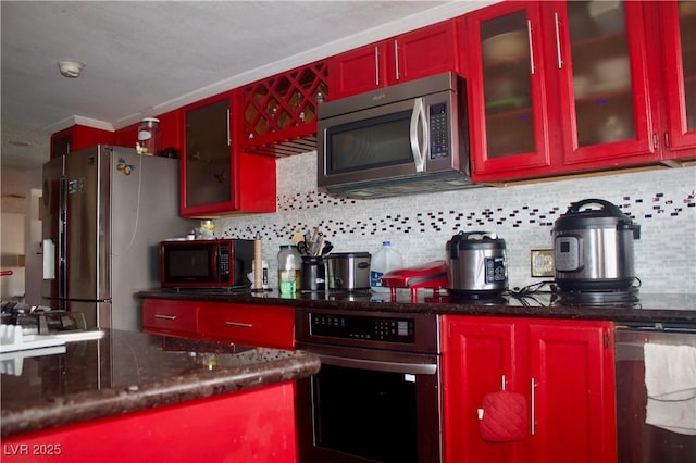
[[[213,247],[182,246],[164,250],[164,276],[169,283],[211,281]]]

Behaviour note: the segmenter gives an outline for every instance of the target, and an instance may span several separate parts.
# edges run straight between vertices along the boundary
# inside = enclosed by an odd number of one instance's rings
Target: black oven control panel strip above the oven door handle
[[[399,343],[415,341],[415,324],[409,318],[312,313],[310,323],[312,336]]]

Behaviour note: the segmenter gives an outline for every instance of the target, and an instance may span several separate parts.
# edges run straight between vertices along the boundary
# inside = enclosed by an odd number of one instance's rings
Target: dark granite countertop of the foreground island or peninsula
[[[302,351],[122,330],[18,363],[3,353],[2,362],[2,437],[298,379],[320,367]]]

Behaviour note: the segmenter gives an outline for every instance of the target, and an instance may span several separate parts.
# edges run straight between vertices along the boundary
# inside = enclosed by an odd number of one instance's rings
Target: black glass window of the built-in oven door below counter
[[[318,447],[378,462],[418,462],[415,376],[322,365],[313,378]]]

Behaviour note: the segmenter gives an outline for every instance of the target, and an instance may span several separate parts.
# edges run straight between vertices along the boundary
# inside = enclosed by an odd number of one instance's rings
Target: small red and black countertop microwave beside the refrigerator
[[[249,289],[253,240],[201,239],[160,243],[162,288]]]

